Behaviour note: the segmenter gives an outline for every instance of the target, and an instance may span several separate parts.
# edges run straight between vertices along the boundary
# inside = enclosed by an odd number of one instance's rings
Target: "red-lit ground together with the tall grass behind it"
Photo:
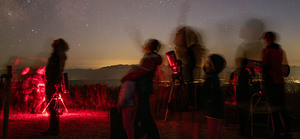
[[[298,109],[300,95],[299,85],[287,89],[287,105],[292,118],[294,138],[300,137],[300,110]],[[58,137],[42,136],[49,122],[46,114],[32,114],[23,110],[22,105],[12,101],[9,138],[110,138],[109,109],[116,106],[119,87],[109,87],[101,84],[71,87],[71,92],[62,94],[69,110],[60,116],[60,135]],[[180,90],[180,89],[179,89]],[[184,101],[173,98],[167,121],[164,122],[167,98],[170,86],[157,86],[151,97],[153,116],[163,139],[207,138],[206,120],[200,109],[187,110],[181,107]],[[225,91],[226,92],[226,91]],[[178,95],[178,92],[175,92]],[[175,94],[176,95],[176,94]],[[226,95],[226,93],[225,93]],[[13,97],[16,98],[16,97]],[[63,109],[63,107],[61,107]],[[226,118],[223,122],[223,138],[238,139],[242,137],[237,131],[237,109],[234,105],[226,105]],[[1,114],[2,125],[2,114]],[[269,132],[267,132],[269,133]],[[265,138],[268,134],[255,134],[255,138]],[[1,134],[2,136],[2,134]]]

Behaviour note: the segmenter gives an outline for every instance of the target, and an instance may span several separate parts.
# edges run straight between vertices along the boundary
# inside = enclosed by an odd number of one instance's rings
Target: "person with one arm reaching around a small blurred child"
[[[153,92],[153,78],[156,69],[162,63],[162,57],[157,53],[161,44],[156,39],[150,39],[144,46],[144,57],[138,68],[128,72],[121,82],[136,81],[138,105],[135,120],[135,138],[146,135],[147,138],[159,139],[158,129],[151,115],[149,98]]]

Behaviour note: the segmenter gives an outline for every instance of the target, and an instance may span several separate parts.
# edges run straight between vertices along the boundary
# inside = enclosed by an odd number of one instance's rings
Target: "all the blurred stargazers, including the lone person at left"
[[[251,32],[251,33],[250,33]],[[236,54],[237,70],[234,72],[237,82],[236,103],[240,110],[239,129],[245,134],[247,112],[251,94],[249,84],[252,70],[249,61],[261,64],[262,92],[268,97],[274,121],[274,137],[281,133],[288,135],[288,114],[285,108],[284,77],[287,76],[283,65],[288,65],[286,54],[276,41],[276,33],[264,32],[264,25],[258,20],[250,20],[241,29],[241,38],[245,40]],[[195,102],[195,93],[192,91],[193,81],[200,79],[201,67],[205,73],[201,90],[204,96],[203,113],[207,118],[207,133],[209,139],[222,138],[222,120],[225,117],[225,103],[218,74],[225,68],[226,60],[221,54],[208,54],[199,32],[188,26],[181,26],[176,30],[173,38],[175,52],[182,62],[182,77],[187,88],[188,105]],[[263,41],[262,41],[263,40]],[[264,43],[263,43],[264,42]],[[150,109],[150,96],[153,93],[153,79],[157,68],[162,64],[162,56],[158,53],[161,43],[157,39],[149,39],[144,44],[144,56],[138,66],[133,67],[122,77],[119,107],[122,113],[123,127],[128,139],[160,138],[155,120]],[[53,52],[46,66],[46,96],[47,101],[53,97],[56,85],[62,80],[62,72],[67,60],[68,44],[63,39],[54,40]],[[199,92],[201,91],[201,92]],[[59,115],[51,102],[50,127],[43,132],[45,135],[59,135]],[[284,120],[284,125],[281,120]]]

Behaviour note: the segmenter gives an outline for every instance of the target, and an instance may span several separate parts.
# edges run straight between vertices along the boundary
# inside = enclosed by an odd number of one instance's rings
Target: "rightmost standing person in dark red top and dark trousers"
[[[262,52],[262,66],[265,93],[268,96],[274,123],[274,137],[281,133],[289,137],[289,120],[285,104],[284,77],[287,76],[283,65],[288,65],[285,51],[276,41],[274,32],[265,32],[263,40],[266,47]]]

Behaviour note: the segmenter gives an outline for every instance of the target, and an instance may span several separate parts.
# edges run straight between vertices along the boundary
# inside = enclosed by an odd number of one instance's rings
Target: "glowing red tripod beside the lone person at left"
[[[69,113],[69,111],[68,111],[68,109],[67,109],[67,107],[66,107],[64,101],[63,101],[62,98],[61,98],[60,91],[59,91],[59,89],[58,89],[58,88],[59,88],[59,85],[55,85],[55,87],[56,87],[56,91],[55,91],[55,93],[52,95],[50,101],[48,102],[48,104],[46,105],[46,107],[44,108],[44,110],[43,110],[42,113],[44,113],[44,112],[46,111],[46,109],[49,107],[49,105],[51,104],[51,102],[52,102],[53,100],[55,101],[54,109],[55,109],[56,113],[58,113],[58,114],[60,114],[60,115],[62,114],[62,111],[59,112],[59,100],[60,100],[60,102],[63,104],[63,106],[64,106],[66,112]]]

